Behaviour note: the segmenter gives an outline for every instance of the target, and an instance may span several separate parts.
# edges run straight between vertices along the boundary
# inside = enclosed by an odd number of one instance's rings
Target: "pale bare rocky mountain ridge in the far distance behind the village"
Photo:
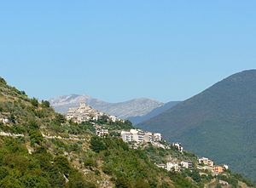
[[[71,107],[78,107],[81,102],[85,102],[97,111],[102,111],[109,115],[113,115],[122,119],[129,117],[137,117],[148,114],[155,108],[164,105],[157,100],[150,99],[135,99],[119,103],[108,103],[102,100],[94,99],[88,95],[71,94],[56,97],[49,100],[50,104],[55,108],[55,111],[67,113]]]

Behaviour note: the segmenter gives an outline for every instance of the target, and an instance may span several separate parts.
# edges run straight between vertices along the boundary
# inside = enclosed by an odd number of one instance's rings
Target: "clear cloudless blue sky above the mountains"
[[[0,3],[0,76],[39,99],[185,100],[256,68],[256,1]]]

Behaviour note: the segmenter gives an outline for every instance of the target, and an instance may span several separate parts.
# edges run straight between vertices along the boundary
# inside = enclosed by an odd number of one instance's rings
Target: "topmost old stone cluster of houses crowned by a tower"
[[[101,111],[96,111],[91,108],[90,105],[80,103],[78,108],[69,108],[67,111],[67,120],[73,120],[73,122],[87,122],[90,120],[97,121],[100,117],[107,116],[112,122],[121,121],[118,117],[109,116]]]

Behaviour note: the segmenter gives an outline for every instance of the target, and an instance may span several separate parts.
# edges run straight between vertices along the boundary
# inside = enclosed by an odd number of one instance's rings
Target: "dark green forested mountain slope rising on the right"
[[[256,71],[225,78],[137,125],[256,181]]]

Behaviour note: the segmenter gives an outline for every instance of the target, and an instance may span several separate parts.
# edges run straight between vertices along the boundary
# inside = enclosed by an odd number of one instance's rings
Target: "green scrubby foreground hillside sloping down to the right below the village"
[[[48,101],[29,99],[0,78],[0,187],[3,188],[167,188],[238,187],[252,185],[230,171],[201,175],[195,155],[175,148],[144,145],[137,150],[119,136],[98,137],[94,124],[111,131],[132,128],[130,122],[67,122]],[[118,132],[117,132],[118,133]],[[158,168],[169,158],[189,160],[195,167],[179,173]],[[225,180],[229,186],[221,186]]]

